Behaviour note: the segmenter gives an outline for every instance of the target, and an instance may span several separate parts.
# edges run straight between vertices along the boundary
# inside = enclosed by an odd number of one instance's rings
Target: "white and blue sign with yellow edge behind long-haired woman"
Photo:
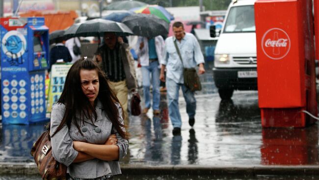
[[[71,66],[72,64],[52,65],[47,112],[51,112],[52,105],[59,100],[64,87],[66,75],[68,74]]]

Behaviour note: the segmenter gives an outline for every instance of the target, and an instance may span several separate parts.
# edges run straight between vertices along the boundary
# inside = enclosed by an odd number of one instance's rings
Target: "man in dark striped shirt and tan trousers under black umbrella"
[[[96,60],[106,73],[110,87],[123,107],[125,125],[128,126],[128,93],[136,89],[134,60],[129,45],[119,43],[116,34],[107,32],[104,35],[104,45],[96,52]]]

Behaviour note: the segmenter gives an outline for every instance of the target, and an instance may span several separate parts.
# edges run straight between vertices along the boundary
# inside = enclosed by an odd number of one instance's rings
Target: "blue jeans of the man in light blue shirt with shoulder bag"
[[[174,128],[181,128],[182,118],[178,107],[179,90],[182,88],[186,101],[186,112],[189,118],[194,118],[196,113],[196,99],[194,92],[190,91],[184,84],[178,84],[170,78],[166,78],[166,89],[168,99],[168,112]]]

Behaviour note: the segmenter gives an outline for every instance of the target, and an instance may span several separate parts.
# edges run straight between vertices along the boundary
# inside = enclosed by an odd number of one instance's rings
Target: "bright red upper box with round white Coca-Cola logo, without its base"
[[[260,108],[305,106],[304,39],[299,1],[257,1],[255,21]],[[289,16],[287,16],[289,14]]]

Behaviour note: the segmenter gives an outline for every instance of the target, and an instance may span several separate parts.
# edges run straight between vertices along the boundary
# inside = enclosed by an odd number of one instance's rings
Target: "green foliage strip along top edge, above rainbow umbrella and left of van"
[[[139,0],[148,4],[158,4],[164,7],[170,7],[170,1],[173,7],[180,6],[198,6],[199,0]],[[232,0],[203,0],[205,10],[225,10]]]

